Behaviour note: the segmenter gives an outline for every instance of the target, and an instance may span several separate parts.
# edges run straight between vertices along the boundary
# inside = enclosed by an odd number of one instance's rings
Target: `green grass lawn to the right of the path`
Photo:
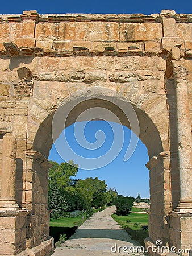
[[[134,210],[134,212],[136,212],[136,210]],[[148,225],[147,213],[130,213],[128,216],[112,214],[112,218],[114,218],[114,220],[118,222],[134,240],[138,241],[141,246],[145,246],[144,239],[148,237],[148,231],[145,232],[143,229],[140,229],[140,226]],[[137,227],[134,223],[140,223],[140,225]]]

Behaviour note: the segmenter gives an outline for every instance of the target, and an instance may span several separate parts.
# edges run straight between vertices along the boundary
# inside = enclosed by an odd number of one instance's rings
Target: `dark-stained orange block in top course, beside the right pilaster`
[[[161,38],[158,23],[121,23],[120,41],[147,41]]]

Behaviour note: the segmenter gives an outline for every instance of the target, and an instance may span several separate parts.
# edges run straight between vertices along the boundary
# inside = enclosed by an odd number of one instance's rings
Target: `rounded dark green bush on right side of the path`
[[[134,200],[133,197],[119,195],[114,201],[114,204],[116,205],[116,213],[119,215],[129,214]]]

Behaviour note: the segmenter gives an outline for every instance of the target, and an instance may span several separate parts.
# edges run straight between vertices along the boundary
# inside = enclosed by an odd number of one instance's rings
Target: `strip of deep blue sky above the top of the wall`
[[[57,1],[2,1],[1,14],[20,14],[23,10],[37,10],[40,14],[46,13],[160,13],[162,9],[172,9],[177,13],[191,13],[190,0],[57,0]]]

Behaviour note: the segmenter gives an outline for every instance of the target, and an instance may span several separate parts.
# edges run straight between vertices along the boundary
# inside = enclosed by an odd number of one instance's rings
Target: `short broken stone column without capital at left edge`
[[[3,136],[3,163],[0,208],[19,208],[15,199],[16,139]]]

